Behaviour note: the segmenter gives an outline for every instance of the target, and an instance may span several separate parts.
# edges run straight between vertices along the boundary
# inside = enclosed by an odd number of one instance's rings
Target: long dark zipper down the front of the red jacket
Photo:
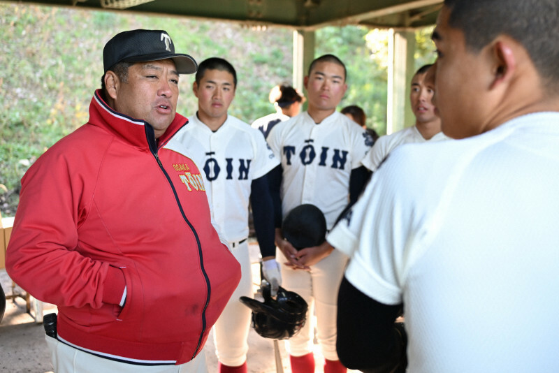
[[[196,233],[196,229],[194,229],[194,226],[188,220],[187,215],[184,214],[184,210],[182,210],[182,205],[180,204],[180,199],[179,199],[179,196],[178,196],[177,191],[175,189],[175,186],[173,185],[173,181],[170,180],[170,176],[167,173],[167,171],[165,170],[165,168],[163,166],[163,163],[161,163],[161,160],[159,159],[159,154],[157,154],[158,149],[157,149],[157,145],[155,145],[155,136],[154,136],[154,132],[153,132],[153,127],[147,122],[145,122],[145,133],[146,133],[146,137],[147,137],[147,143],[150,147],[150,152],[152,153],[155,160],[157,161],[157,164],[159,165],[159,168],[161,169],[161,171],[164,173],[165,177],[167,178],[167,182],[169,183],[171,189],[173,189],[173,194],[175,196],[175,200],[177,201],[177,206],[179,207],[180,214],[182,215],[182,219],[184,219],[184,221],[187,222],[190,230],[192,231],[192,233],[194,233],[194,237],[196,237],[196,245],[198,246],[198,255],[200,256],[200,268],[202,270],[202,274],[203,274],[204,279],[205,279],[206,287],[208,288],[208,295],[206,296],[205,305],[202,309],[202,331],[200,333],[200,337],[198,337],[198,344],[196,344],[196,349],[194,350],[194,355],[192,355],[192,358],[191,358],[191,360],[192,360],[196,357],[196,354],[200,350],[203,335],[204,335],[204,332],[205,332],[206,326],[207,326],[207,321],[205,319],[205,310],[208,309],[208,305],[210,304],[210,295],[212,293],[212,289],[210,287],[210,277],[208,277],[208,273],[205,272],[204,259],[203,259],[203,253],[202,253],[202,244],[200,243],[200,237],[198,237],[198,233]],[[163,146],[163,145],[161,145],[161,146]]]

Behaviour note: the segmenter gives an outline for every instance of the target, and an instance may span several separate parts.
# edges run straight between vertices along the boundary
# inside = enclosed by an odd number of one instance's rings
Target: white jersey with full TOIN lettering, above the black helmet
[[[281,160],[282,212],[312,203],[332,228],[349,203],[349,176],[361,166],[372,146],[372,138],[340,112],[333,112],[320,124],[307,112],[277,124],[268,144]]]

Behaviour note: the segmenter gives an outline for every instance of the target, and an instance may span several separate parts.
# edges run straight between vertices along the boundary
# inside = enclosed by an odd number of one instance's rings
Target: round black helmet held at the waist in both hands
[[[298,250],[318,246],[326,240],[326,218],[317,206],[304,203],[287,213],[282,232]]]

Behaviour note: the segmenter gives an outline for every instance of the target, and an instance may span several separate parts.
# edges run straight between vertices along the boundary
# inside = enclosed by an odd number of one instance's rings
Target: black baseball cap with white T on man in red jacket
[[[110,39],[103,48],[105,72],[122,61],[158,61],[173,59],[177,73],[194,74],[198,64],[188,54],[175,53],[175,44],[164,30],[123,31]]]

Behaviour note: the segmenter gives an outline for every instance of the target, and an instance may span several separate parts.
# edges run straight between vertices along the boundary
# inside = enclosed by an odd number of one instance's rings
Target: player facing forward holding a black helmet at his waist
[[[295,291],[316,309],[317,337],[326,358],[324,372],[345,372],[335,350],[337,289],[347,257],[333,251],[328,242],[297,251],[284,240],[279,228],[281,217],[293,207],[310,203],[326,217],[327,228],[352,198],[357,198],[365,184],[361,159],[372,139],[360,126],[336,111],[347,89],[346,69],[332,54],[315,59],[304,80],[308,111],[277,124],[268,143],[281,159],[271,177],[272,187],[281,200],[276,217],[277,260],[282,265],[284,288]],[[281,186],[281,188],[279,187]],[[312,318],[301,332],[287,341],[291,370],[314,372]]]

